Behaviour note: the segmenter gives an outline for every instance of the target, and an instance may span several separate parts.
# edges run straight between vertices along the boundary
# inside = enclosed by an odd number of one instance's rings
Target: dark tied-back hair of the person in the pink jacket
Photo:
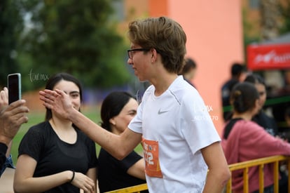
[[[238,83],[230,92],[230,104],[235,112],[247,112],[253,109],[259,98],[256,87],[249,82]]]

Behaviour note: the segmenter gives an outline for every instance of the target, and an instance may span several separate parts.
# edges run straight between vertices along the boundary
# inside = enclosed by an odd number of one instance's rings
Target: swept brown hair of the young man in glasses
[[[167,17],[134,20],[129,24],[128,38],[142,48],[155,48],[168,72],[181,72],[186,54],[186,34],[176,21]]]

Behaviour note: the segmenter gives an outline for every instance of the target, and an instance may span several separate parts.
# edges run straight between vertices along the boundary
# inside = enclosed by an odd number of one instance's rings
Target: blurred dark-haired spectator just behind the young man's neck
[[[181,74],[179,74],[179,75],[183,75],[184,80],[186,80],[189,84],[194,86],[191,81],[192,81],[193,77],[195,76],[195,73],[196,73],[195,61],[191,58],[186,58],[184,67],[182,68]]]

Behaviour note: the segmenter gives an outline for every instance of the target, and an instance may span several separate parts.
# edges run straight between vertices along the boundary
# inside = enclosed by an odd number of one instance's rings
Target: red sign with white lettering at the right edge
[[[247,47],[248,68],[290,68],[290,44],[249,45]]]

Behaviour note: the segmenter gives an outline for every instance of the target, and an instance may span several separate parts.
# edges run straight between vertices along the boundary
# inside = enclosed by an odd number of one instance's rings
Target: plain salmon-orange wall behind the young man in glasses
[[[230,78],[230,65],[244,61],[241,2],[149,0],[149,15],[167,15],[184,27],[187,55],[198,65],[193,83],[212,107],[209,113],[218,119],[214,125],[221,133],[220,88]]]

